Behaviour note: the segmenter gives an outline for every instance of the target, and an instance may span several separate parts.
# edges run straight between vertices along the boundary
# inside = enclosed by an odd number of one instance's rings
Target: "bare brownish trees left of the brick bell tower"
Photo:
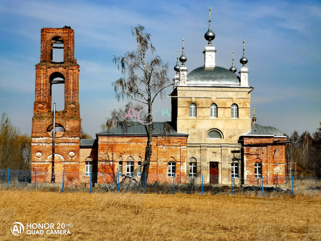
[[[31,137],[21,135],[6,113],[0,122],[0,168],[31,169]]]

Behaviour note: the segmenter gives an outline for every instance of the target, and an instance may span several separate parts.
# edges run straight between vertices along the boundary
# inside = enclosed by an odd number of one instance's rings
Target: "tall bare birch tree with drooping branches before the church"
[[[137,49],[113,59],[122,73],[122,77],[113,83],[117,100],[127,98],[129,102],[124,109],[112,111],[111,117],[107,119],[106,128],[111,129],[117,125],[128,127],[132,121],[130,117],[136,117],[144,126],[147,143],[140,180],[145,180],[148,178],[154,130],[152,104],[156,96],[162,98],[164,89],[173,83],[170,83],[167,77],[168,65],[164,64],[161,57],[154,55],[155,48],[151,44],[150,35],[144,33],[144,27],[140,25],[132,27],[131,34],[136,39]],[[151,56],[151,60],[147,61],[146,56]],[[141,166],[128,177],[129,181],[134,178]]]

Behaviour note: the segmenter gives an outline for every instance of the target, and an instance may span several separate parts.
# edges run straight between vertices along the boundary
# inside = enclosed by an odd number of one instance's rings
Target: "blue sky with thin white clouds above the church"
[[[82,128],[94,137],[111,111],[125,104],[115,98],[112,82],[121,73],[112,60],[136,48],[131,26],[145,27],[173,79],[183,38],[188,72],[203,66],[210,7],[217,66],[229,69],[235,51],[239,70],[246,41],[257,123],[287,135],[315,132],[321,122],[320,1],[0,0],[0,113],[31,134],[41,29],[71,26],[80,65]],[[171,109],[170,97],[156,105],[156,120],[170,121],[161,114],[162,108]]]

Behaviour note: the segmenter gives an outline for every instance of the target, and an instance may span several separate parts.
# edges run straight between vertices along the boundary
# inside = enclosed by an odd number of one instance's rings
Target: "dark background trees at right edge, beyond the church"
[[[304,176],[321,177],[321,122],[312,135],[305,131],[301,136],[294,131],[288,138],[293,143],[288,148],[287,158],[303,169]]]

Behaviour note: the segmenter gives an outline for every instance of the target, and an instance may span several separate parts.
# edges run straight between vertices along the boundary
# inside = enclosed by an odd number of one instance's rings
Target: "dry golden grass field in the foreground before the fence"
[[[321,240],[321,196],[0,190],[1,240]],[[71,234],[12,234],[14,222],[73,223]]]

